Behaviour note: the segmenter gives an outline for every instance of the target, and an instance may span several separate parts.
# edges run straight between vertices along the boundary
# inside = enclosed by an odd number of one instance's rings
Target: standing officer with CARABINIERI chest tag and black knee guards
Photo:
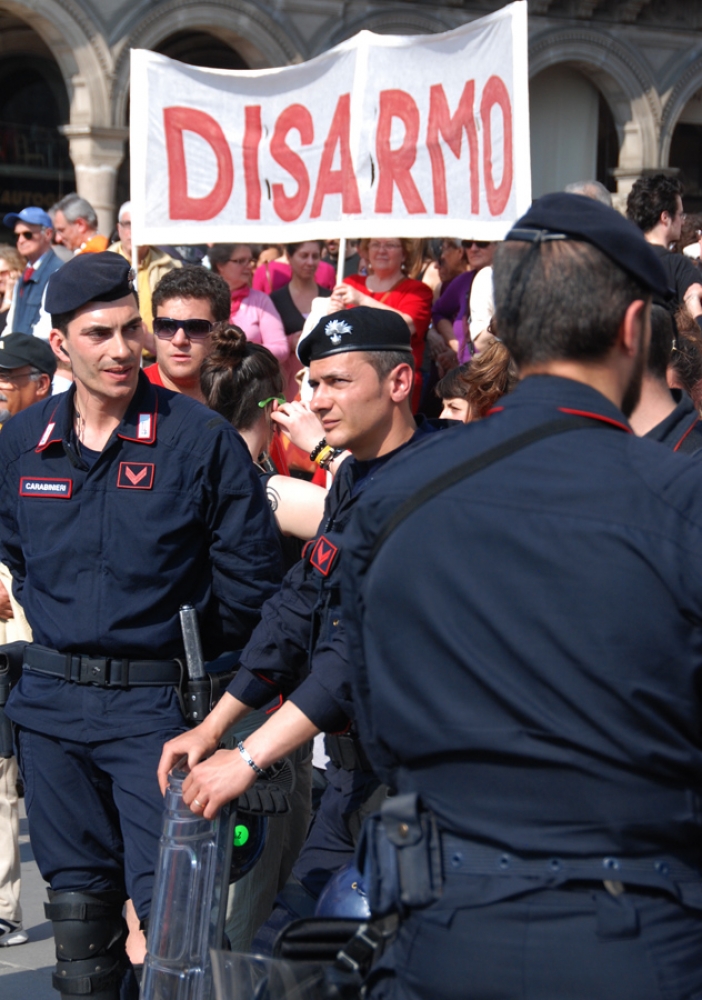
[[[140,371],[127,261],[81,255],[52,276],[51,343],[75,386],[0,435],[0,560],[34,634],[7,714],[62,997],[116,1000],[122,906],[148,917],[164,739],[184,728],[179,606],[206,658],[241,648],[280,554],[243,441]]]

